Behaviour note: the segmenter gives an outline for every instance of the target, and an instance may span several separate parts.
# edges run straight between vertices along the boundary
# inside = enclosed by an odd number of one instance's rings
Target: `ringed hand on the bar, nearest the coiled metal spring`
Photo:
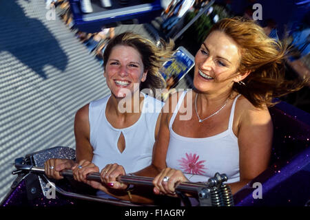
[[[169,195],[176,197],[176,186],[183,181],[189,181],[181,170],[165,168],[153,180],[156,195]]]

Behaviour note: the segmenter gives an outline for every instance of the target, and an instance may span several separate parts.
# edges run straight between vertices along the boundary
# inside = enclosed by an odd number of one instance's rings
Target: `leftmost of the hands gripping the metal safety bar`
[[[53,179],[63,179],[63,176],[59,172],[65,169],[71,169],[74,164],[72,159],[48,159],[44,163],[45,175]]]

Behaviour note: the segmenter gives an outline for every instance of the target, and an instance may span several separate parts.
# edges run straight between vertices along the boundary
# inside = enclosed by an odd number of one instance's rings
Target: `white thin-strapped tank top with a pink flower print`
[[[169,122],[170,140],[167,151],[167,167],[182,170],[190,181],[207,181],[215,173],[225,173],[227,183],[240,180],[238,138],[232,130],[236,100],[229,117],[228,129],[211,137],[183,137],[175,133],[172,124],[183,103],[186,91],[180,96]]]

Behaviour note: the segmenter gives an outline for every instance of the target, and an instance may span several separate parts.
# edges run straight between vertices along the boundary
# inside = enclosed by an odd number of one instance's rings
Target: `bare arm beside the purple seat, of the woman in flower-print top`
[[[238,130],[240,181],[229,184],[233,194],[268,167],[273,137],[267,108],[251,107],[241,115]]]

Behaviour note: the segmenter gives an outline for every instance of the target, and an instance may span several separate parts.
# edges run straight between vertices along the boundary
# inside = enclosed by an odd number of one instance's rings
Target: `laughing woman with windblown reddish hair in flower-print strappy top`
[[[273,98],[300,88],[285,80],[286,54],[254,21],[216,23],[195,56],[195,89],[169,96],[152,164],[135,175],[155,177],[155,194],[175,196],[182,181],[226,173],[235,193],[262,173],[273,137],[268,107]],[[192,117],[184,120],[189,109]],[[114,166],[101,175],[109,182],[124,173]]]

